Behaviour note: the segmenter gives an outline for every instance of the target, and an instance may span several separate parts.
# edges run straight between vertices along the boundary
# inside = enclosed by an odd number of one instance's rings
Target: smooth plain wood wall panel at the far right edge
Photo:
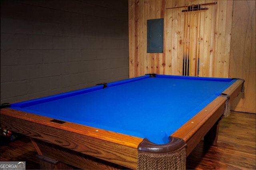
[[[245,80],[245,92],[232,102],[231,109],[249,113],[256,113],[255,8],[255,0],[234,1],[230,52],[230,77],[241,77]]]

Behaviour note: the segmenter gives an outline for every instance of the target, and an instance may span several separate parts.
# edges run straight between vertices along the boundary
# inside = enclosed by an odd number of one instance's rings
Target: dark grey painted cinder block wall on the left
[[[127,0],[0,3],[1,103],[128,78]]]

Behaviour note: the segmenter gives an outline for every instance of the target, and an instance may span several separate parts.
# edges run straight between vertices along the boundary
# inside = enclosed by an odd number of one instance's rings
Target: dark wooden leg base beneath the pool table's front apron
[[[41,169],[130,169],[39,139],[30,139],[38,152],[36,157]]]

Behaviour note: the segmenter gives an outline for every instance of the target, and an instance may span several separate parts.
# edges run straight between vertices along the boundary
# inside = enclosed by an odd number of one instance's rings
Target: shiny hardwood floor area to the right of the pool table
[[[256,114],[232,111],[220,121],[217,144],[201,141],[187,158],[187,169],[256,168]]]

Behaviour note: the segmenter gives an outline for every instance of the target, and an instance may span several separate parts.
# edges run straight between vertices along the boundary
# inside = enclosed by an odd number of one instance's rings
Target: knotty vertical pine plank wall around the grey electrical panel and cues
[[[212,2],[217,4],[209,5],[208,10],[199,13],[182,12],[184,8],[166,9]],[[232,36],[236,35],[232,33],[233,6],[234,0],[128,0],[129,77],[148,73],[182,75],[183,57],[188,54],[186,51],[189,51],[191,57],[190,76],[227,78],[234,75],[230,74],[230,70],[240,72],[239,67],[230,68],[231,41]],[[252,8],[250,10],[254,9],[255,14],[255,6],[250,8]],[[246,12],[248,12],[247,8],[234,11],[238,16]],[[190,16],[192,21],[187,20]],[[147,20],[158,18],[164,18],[164,53],[147,53]],[[186,30],[190,30],[190,49],[186,46],[186,37],[188,37]],[[239,30],[236,31],[240,36],[243,35]],[[233,47],[236,48],[236,45]],[[255,58],[255,48],[250,50],[252,50],[251,57]],[[198,57],[200,60],[197,75]],[[255,71],[255,64],[254,66],[252,64],[251,69]],[[252,80],[255,81],[255,78]],[[247,90],[248,94],[255,94],[255,86],[250,86]],[[241,106],[242,109],[239,111],[255,113],[255,99],[252,102],[254,105],[249,106],[252,109],[248,110],[247,106]]]

